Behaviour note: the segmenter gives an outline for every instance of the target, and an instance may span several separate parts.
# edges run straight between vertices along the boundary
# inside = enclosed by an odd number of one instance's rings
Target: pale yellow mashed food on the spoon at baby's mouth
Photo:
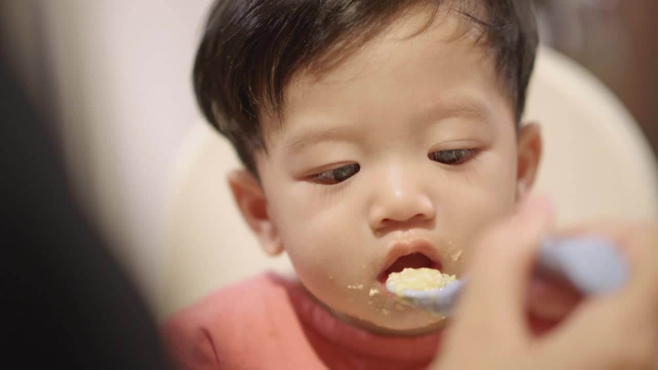
[[[437,269],[403,269],[399,273],[391,273],[386,279],[387,286],[393,286],[396,296],[401,296],[405,290],[436,290],[445,284],[457,280],[455,275],[442,274]]]

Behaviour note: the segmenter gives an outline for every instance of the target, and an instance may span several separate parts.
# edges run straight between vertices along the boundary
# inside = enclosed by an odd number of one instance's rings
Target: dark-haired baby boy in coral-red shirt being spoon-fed
[[[295,279],[261,275],[174,315],[182,367],[428,365],[445,321],[384,282],[407,267],[459,277],[479,232],[530,192],[528,3],[215,3],[197,99],[244,164],[229,183],[245,221]]]

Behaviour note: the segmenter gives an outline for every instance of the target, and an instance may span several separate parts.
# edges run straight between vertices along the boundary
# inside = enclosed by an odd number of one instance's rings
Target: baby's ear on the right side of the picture
[[[537,176],[542,159],[542,130],[539,124],[529,123],[519,130],[517,158],[517,202],[525,199]]]

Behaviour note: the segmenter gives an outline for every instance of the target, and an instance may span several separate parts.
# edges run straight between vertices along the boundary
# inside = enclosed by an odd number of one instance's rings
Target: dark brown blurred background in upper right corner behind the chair
[[[603,81],[630,110],[657,153],[658,1],[535,1],[542,41]]]

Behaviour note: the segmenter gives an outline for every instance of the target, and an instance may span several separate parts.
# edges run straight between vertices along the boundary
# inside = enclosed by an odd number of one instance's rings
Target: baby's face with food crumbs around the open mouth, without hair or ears
[[[417,26],[398,22],[321,78],[296,78],[257,155],[268,217],[304,286],[338,315],[399,334],[441,320],[399,304],[388,274],[459,277],[478,232],[524,190],[492,59],[469,38],[449,41],[446,22],[406,38]]]

